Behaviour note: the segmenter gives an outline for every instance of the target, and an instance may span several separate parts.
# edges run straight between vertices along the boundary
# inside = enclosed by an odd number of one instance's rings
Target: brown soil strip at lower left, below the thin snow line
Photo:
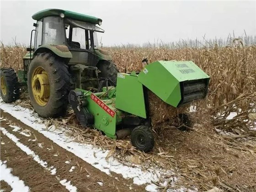
[[[2,125],[2,122],[1,122]],[[31,191],[38,192],[44,187],[44,192],[66,191],[55,176],[50,175],[42,166],[23,152],[16,144],[1,132],[1,160],[12,168],[12,174],[18,176]]]

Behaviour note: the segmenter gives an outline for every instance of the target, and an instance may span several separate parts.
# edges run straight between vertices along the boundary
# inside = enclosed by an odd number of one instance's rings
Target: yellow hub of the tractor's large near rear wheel
[[[49,78],[43,67],[37,67],[32,75],[33,96],[40,106],[45,106],[49,101],[50,85]]]

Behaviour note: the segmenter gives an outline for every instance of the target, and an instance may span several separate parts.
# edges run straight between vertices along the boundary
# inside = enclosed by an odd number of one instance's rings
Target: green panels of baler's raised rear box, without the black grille
[[[177,107],[181,101],[180,82],[209,79],[192,61],[156,61],[139,73],[138,80],[160,99]]]

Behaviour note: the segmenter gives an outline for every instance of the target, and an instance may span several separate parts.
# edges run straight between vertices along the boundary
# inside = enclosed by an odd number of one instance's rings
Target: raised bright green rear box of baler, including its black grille
[[[207,96],[210,77],[192,61],[156,61],[139,73],[141,84],[173,107]]]

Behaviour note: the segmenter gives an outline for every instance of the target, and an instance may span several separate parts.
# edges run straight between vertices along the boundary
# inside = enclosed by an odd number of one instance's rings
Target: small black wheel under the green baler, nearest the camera
[[[149,127],[139,126],[133,129],[131,134],[132,144],[136,149],[150,152],[155,145],[154,136]]]

